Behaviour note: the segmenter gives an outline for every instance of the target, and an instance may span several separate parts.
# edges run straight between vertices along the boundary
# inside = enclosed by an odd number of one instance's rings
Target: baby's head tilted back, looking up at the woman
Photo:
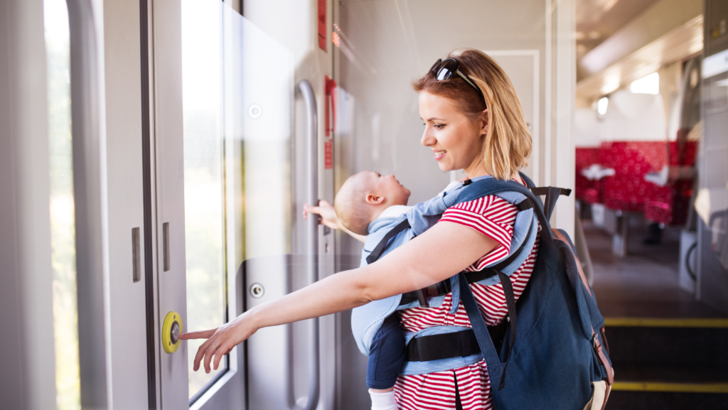
[[[410,191],[395,176],[362,171],[350,176],[333,201],[336,215],[350,231],[367,234],[371,221],[392,205],[407,205]]]

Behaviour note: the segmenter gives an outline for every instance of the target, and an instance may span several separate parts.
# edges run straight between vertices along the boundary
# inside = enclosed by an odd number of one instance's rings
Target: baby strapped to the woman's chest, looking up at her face
[[[333,207],[325,201],[321,201],[318,207],[306,205],[304,218],[308,212],[320,214],[323,224],[343,229],[363,242],[361,266],[364,266],[368,264],[367,256],[376,245],[401,221],[407,218],[414,225],[393,236],[381,257],[417,234],[422,234],[427,229],[427,224],[423,225],[423,218],[439,218],[446,208],[454,205],[459,189],[462,189],[462,182],[453,181],[432,200],[407,206],[410,191],[395,176],[362,171],[344,182],[336,194]],[[336,215],[333,215],[334,211]],[[367,386],[372,410],[396,410],[394,386],[405,361],[405,335],[400,329],[399,318],[394,313],[384,318],[375,334],[370,334],[368,325],[373,323],[367,320],[371,318],[366,318],[364,323],[358,321],[357,310],[361,309],[363,307],[352,311],[352,331],[359,349],[369,356]],[[364,327],[359,326],[362,324]]]

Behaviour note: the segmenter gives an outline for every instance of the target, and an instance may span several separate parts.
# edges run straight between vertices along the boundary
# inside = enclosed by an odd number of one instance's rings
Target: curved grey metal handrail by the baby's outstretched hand
[[[306,135],[307,147],[304,152],[308,154],[308,179],[309,189],[306,195],[306,201],[311,205],[318,204],[318,138],[317,138],[317,111],[316,111],[316,96],[314,90],[311,87],[311,83],[308,80],[301,80],[298,82],[298,90],[301,90],[301,95],[304,97],[306,102],[306,129],[308,133]],[[318,220],[317,218],[308,218],[307,228],[309,231],[309,246],[306,250],[309,254],[309,277],[310,282],[316,282],[319,277],[318,269]],[[306,406],[301,408],[295,406],[295,409],[314,410],[318,405],[319,390],[320,390],[320,366],[319,366],[319,320],[318,318],[312,319],[311,329],[311,355],[310,355],[310,374],[309,374],[309,397]]]

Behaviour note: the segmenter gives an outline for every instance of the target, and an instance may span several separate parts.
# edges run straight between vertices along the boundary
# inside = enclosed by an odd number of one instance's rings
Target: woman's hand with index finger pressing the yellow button
[[[213,361],[213,369],[217,370],[220,359],[224,355],[258,331],[258,328],[253,325],[251,312],[249,310],[219,328],[193,331],[180,336],[180,339],[184,340],[207,339],[197,349],[197,355],[194,356],[194,371],[199,370],[199,363],[203,358],[205,359],[205,373],[210,373],[210,361]]]

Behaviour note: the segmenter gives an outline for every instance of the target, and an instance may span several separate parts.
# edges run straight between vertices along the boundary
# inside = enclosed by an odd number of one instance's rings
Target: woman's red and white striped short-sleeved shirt
[[[440,222],[468,226],[498,243],[493,251],[465,269],[475,271],[508,256],[517,213],[518,209],[510,202],[496,196],[488,196],[449,208],[443,213]],[[538,248],[537,236],[529,257],[518,270],[513,272],[513,275],[510,275],[516,300],[523,293],[534,270]],[[488,326],[495,326],[505,318],[508,310],[500,283],[488,286],[472,283],[470,289]],[[405,331],[420,331],[434,326],[472,327],[462,301],[459,302],[454,315],[449,314],[451,308],[452,293],[448,293],[440,307],[413,307],[400,310],[400,327]],[[416,376],[400,375],[395,385],[397,407],[408,410],[455,409],[456,380],[464,410],[492,409],[491,382],[485,360],[455,370]]]

